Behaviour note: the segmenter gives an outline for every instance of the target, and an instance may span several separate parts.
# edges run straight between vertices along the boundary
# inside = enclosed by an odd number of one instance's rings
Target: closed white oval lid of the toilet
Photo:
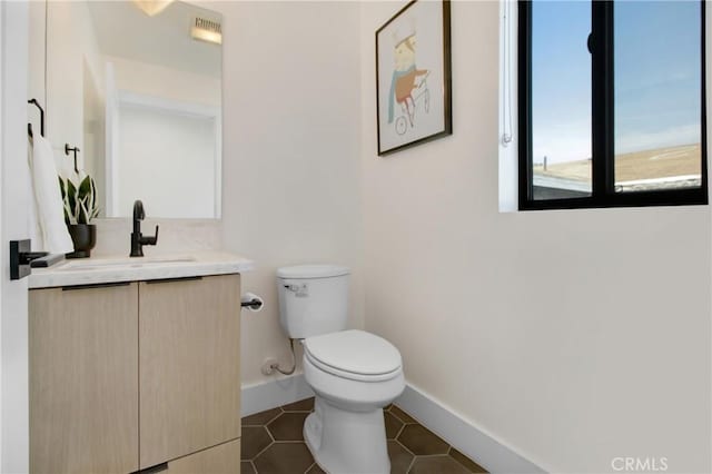
[[[393,344],[358,329],[308,337],[304,348],[307,356],[316,362],[350,374],[390,374],[402,365],[400,353]]]

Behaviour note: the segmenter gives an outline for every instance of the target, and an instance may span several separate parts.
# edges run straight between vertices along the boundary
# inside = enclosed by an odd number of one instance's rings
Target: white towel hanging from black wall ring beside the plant
[[[75,250],[75,245],[65,224],[65,207],[59,189],[55,152],[44,137],[34,134],[33,141],[32,187],[37,217],[42,229],[43,248],[41,250],[50,254],[68,254]]]

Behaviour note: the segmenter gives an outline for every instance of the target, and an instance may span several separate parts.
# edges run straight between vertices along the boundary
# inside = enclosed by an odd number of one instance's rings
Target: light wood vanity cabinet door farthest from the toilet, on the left
[[[31,473],[138,468],[138,284],[29,292]]]

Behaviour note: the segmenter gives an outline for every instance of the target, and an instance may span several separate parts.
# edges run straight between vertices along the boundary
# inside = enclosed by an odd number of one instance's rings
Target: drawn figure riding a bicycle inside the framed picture
[[[388,124],[395,118],[395,105],[399,105],[407,115],[411,127],[414,125],[416,100],[425,96],[425,111],[429,108],[429,92],[427,90],[427,69],[417,69],[415,66],[416,31],[412,22],[405,21],[394,33],[395,66],[390,80],[390,93],[388,100]],[[419,80],[418,80],[419,78]],[[414,98],[414,90],[417,95]],[[396,131],[403,135],[407,128],[405,117],[396,119]]]

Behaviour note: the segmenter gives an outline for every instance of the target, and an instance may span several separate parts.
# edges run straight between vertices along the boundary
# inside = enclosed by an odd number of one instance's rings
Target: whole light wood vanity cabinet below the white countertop
[[[239,278],[31,289],[30,472],[239,473]]]

